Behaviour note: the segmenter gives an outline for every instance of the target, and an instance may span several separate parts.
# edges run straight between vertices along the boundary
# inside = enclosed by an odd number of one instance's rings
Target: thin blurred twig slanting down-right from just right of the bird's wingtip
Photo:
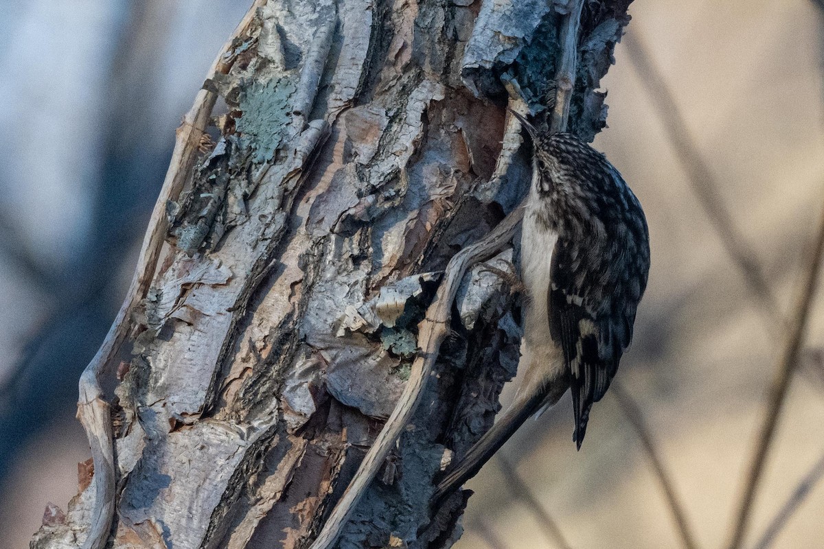
[[[647,453],[649,461],[653,464],[655,476],[658,478],[658,484],[661,486],[664,496],[667,498],[667,503],[672,511],[672,518],[675,519],[678,527],[678,533],[681,534],[681,542],[687,549],[695,549],[695,547],[698,547],[698,544],[695,542],[695,536],[691,533],[690,524],[686,520],[684,506],[681,505],[681,500],[678,499],[675,483],[672,482],[672,478],[669,476],[667,469],[664,468],[662,459],[658,456],[652,436],[650,435],[649,427],[644,421],[644,414],[630,396],[630,393],[627,393],[619,383],[616,383],[616,380],[612,381],[609,393],[616,398],[621,412],[624,412],[626,418],[630,420],[630,424],[632,424],[635,432],[638,434],[641,444],[644,445],[644,450]]]

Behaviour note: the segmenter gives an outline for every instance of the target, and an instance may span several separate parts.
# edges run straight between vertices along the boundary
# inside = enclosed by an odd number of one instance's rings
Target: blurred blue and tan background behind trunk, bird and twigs
[[[783,337],[696,198],[671,138],[672,110],[662,112],[652,98],[672,95],[719,203],[787,314],[824,204],[817,5],[636,0],[605,80],[610,128],[595,146],[644,203],[653,248],[634,347],[617,379],[642,407],[700,547],[720,547],[728,535]],[[64,509],[77,491],[75,463],[88,458],[73,419],[77,375],[131,275],[174,128],[246,7],[246,0],[0,3],[7,547],[27,547],[46,502]],[[666,89],[649,77],[639,44]],[[66,343],[78,334],[86,347]],[[824,347],[821,298],[806,347],[813,351],[790,387],[745,547],[824,454],[824,376],[815,352]],[[680,547],[648,455],[614,395],[594,408],[578,453],[571,432],[563,400],[503,449],[569,545]],[[497,460],[470,483],[477,493],[456,547],[559,547],[508,485]],[[824,547],[822,509],[819,482],[773,547]]]

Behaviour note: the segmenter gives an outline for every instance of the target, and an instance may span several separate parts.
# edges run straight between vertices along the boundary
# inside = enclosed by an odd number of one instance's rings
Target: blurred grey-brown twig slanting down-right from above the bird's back
[[[775,295],[766,282],[756,253],[747,244],[747,239],[737,229],[733,216],[723,205],[723,198],[718,192],[721,188],[709,165],[701,156],[695,139],[692,137],[686,121],[678,109],[667,81],[653,62],[643,40],[638,35],[625,35],[622,43],[629,53],[630,61],[639,72],[641,82],[646,88],[658,116],[664,122],[663,127],[670,139],[681,166],[686,171],[690,187],[704,208],[709,221],[715,227],[727,253],[741,270],[747,285],[758,297],[759,304],[770,319],[780,319],[780,309]]]

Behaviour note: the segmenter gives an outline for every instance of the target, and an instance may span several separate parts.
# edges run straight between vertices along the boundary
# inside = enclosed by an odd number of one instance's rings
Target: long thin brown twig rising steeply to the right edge
[[[803,284],[798,291],[794,315],[790,323],[791,328],[787,341],[784,344],[781,361],[778,369],[775,371],[775,378],[770,385],[767,415],[761,426],[756,449],[752,455],[750,468],[747,472],[747,482],[738,503],[737,519],[733,527],[733,534],[728,543],[730,549],[738,549],[738,547],[741,547],[744,532],[750,518],[754,496],[761,482],[761,472],[763,472],[764,469],[764,462],[770,451],[775,426],[778,423],[781,410],[783,409],[782,404],[787,394],[787,388],[789,388],[790,379],[792,379],[793,370],[795,370],[798,364],[798,351],[803,341],[804,329],[807,328],[812,296],[815,294],[818,284],[822,250],[824,250],[824,212],[822,212],[812,254],[809,255],[809,263],[804,269]]]

